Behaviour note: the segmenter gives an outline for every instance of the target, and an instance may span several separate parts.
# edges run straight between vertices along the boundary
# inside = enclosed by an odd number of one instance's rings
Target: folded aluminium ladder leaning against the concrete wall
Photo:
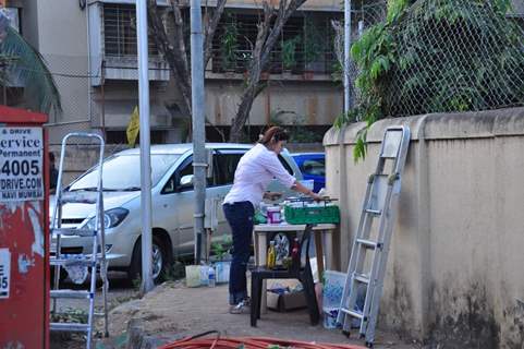
[[[350,334],[352,323],[360,323],[360,337],[365,338],[369,348],[375,340],[386,263],[409,144],[407,127],[386,129],[377,168],[367,182],[337,318],[346,335]],[[357,306],[358,303],[361,306]]]

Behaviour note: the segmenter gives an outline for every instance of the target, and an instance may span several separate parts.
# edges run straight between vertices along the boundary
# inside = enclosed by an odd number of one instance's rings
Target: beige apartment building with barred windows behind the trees
[[[63,112],[50,116],[51,143],[72,130],[98,130],[105,132],[108,143],[125,142],[125,128],[138,104],[134,3],[9,1],[21,33],[46,59],[62,97]],[[157,3],[164,9],[169,27],[169,1]],[[206,117],[212,124],[207,131],[212,141],[228,133],[235,115],[259,9],[257,1],[229,0],[215,36],[205,75]],[[188,8],[186,12],[188,20]],[[309,0],[285,25],[281,43],[295,38],[292,62],[288,59],[284,64],[282,45],[278,45],[263,76],[268,87],[256,98],[246,125],[253,129],[253,136],[269,122],[301,124],[321,134],[341,112],[342,87],[331,76],[336,58],[330,21],[336,17],[341,17],[338,0]],[[224,37],[232,34],[233,55],[223,50]],[[148,76],[151,142],[184,141],[190,116],[181,112],[175,82],[151,39]]]

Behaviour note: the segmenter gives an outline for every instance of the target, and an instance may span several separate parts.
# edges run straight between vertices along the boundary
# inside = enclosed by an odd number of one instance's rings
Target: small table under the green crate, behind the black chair
[[[267,263],[268,233],[272,232],[297,232],[304,231],[306,225],[255,225],[253,229],[255,245],[255,265],[263,266]],[[313,237],[315,238],[315,253],[317,256],[318,276],[321,277],[324,272],[324,258],[326,258],[326,268],[331,269],[334,265],[333,255],[333,231],[337,225],[319,224],[313,227]],[[324,239],[322,239],[324,238]],[[324,245],[322,245],[324,240]],[[291,241],[290,241],[291,244]],[[266,312],[266,281],[263,285],[261,311]]]

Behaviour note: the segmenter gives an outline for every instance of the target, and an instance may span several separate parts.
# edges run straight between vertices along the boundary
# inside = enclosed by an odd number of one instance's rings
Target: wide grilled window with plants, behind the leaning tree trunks
[[[271,51],[266,71],[293,74],[304,71],[331,73],[336,63],[333,52],[334,32],[330,21],[340,13],[304,13],[288,20],[279,41]],[[212,41],[212,67],[215,73],[224,71],[242,73],[247,69],[251,52],[257,37],[256,13],[229,11],[222,15]],[[284,43],[291,44],[283,59]]]

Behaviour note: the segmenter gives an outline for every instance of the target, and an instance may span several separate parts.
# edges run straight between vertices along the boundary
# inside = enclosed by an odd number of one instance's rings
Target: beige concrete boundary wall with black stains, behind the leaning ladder
[[[345,270],[383,131],[412,132],[379,327],[429,348],[524,348],[524,108],[386,119],[326,133]]]

